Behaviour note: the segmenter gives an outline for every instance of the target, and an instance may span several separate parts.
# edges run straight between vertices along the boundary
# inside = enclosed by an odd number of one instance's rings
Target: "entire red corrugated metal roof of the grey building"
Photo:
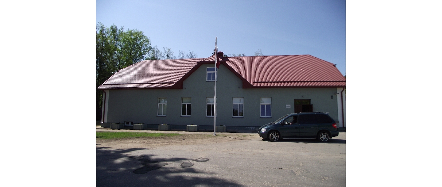
[[[210,56],[141,61],[112,75],[99,89],[179,89],[201,64],[214,60]],[[311,55],[237,56],[220,60],[243,80],[244,88],[345,86],[345,78],[334,64]]]

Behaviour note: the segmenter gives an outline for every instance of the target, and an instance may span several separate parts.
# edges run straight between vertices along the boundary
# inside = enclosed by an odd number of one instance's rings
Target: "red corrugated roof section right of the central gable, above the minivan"
[[[345,86],[334,64],[311,55],[228,58],[225,63],[252,86]]]

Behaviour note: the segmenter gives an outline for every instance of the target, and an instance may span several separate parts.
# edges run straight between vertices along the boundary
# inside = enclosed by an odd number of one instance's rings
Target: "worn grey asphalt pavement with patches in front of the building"
[[[345,132],[328,143],[269,142],[258,136],[151,149],[97,145],[96,165],[97,187],[341,187],[345,186]]]

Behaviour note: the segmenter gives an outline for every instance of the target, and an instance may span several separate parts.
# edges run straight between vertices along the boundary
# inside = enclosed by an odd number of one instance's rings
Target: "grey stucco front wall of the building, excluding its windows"
[[[110,90],[107,122],[174,125],[213,125],[206,117],[206,97],[213,97],[214,82],[206,82],[204,64],[183,82],[183,89]],[[162,75],[159,75],[162,76]],[[293,100],[311,99],[313,111],[330,112],[338,120],[336,88],[243,89],[242,81],[221,64],[217,81],[217,125],[261,126],[293,113]],[[167,97],[167,116],[157,116],[158,97]],[[192,98],[191,117],[181,117],[181,97]],[[232,97],[244,97],[244,118],[232,117]],[[271,97],[271,118],[260,118],[259,97]],[[286,108],[291,105],[291,108]]]

